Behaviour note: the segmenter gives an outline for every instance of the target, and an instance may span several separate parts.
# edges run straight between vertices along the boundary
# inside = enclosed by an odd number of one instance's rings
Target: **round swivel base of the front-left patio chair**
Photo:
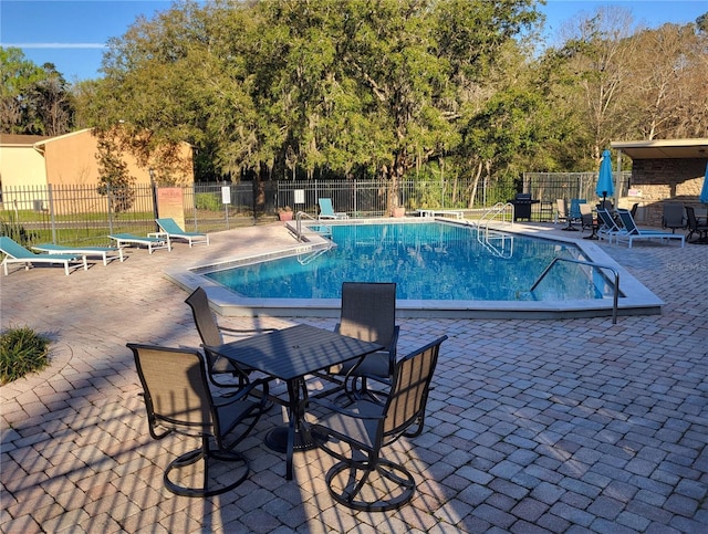
[[[209,471],[211,467],[210,464],[214,463],[215,460],[219,462],[241,464],[240,469],[237,465],[229,467],[227,475],[229,478],[236,477],[232,482],[226,485],[212,484]],[[180,478],[194,478],[198,474],[198,467],[195,467],[191,470],[188,469],[190,465],[196,465],[198,463],[202,464],[201,485],[185,485],[185,483],[180,483]],[[231,491],[240,485],[248,478],[249,469],[248,460],[242,454],[229,450],[211,450],[209,447],[209,437],[202,436],[201,448],[186,452],[179,458],[173,460],[169,465],[167,465],[167,469],[165,469],[163,480],[165,481],[165,488],[176,495],[201,498],[212,496],[226,493],[227,491]],[[240,474],[239,470],[241,471]]]

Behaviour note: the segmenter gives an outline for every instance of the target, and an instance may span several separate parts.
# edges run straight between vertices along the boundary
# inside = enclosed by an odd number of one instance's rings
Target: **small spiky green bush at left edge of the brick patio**
[[[31,328],[10,328],[0,335],[0,385],[49,365],[49,338]]]

